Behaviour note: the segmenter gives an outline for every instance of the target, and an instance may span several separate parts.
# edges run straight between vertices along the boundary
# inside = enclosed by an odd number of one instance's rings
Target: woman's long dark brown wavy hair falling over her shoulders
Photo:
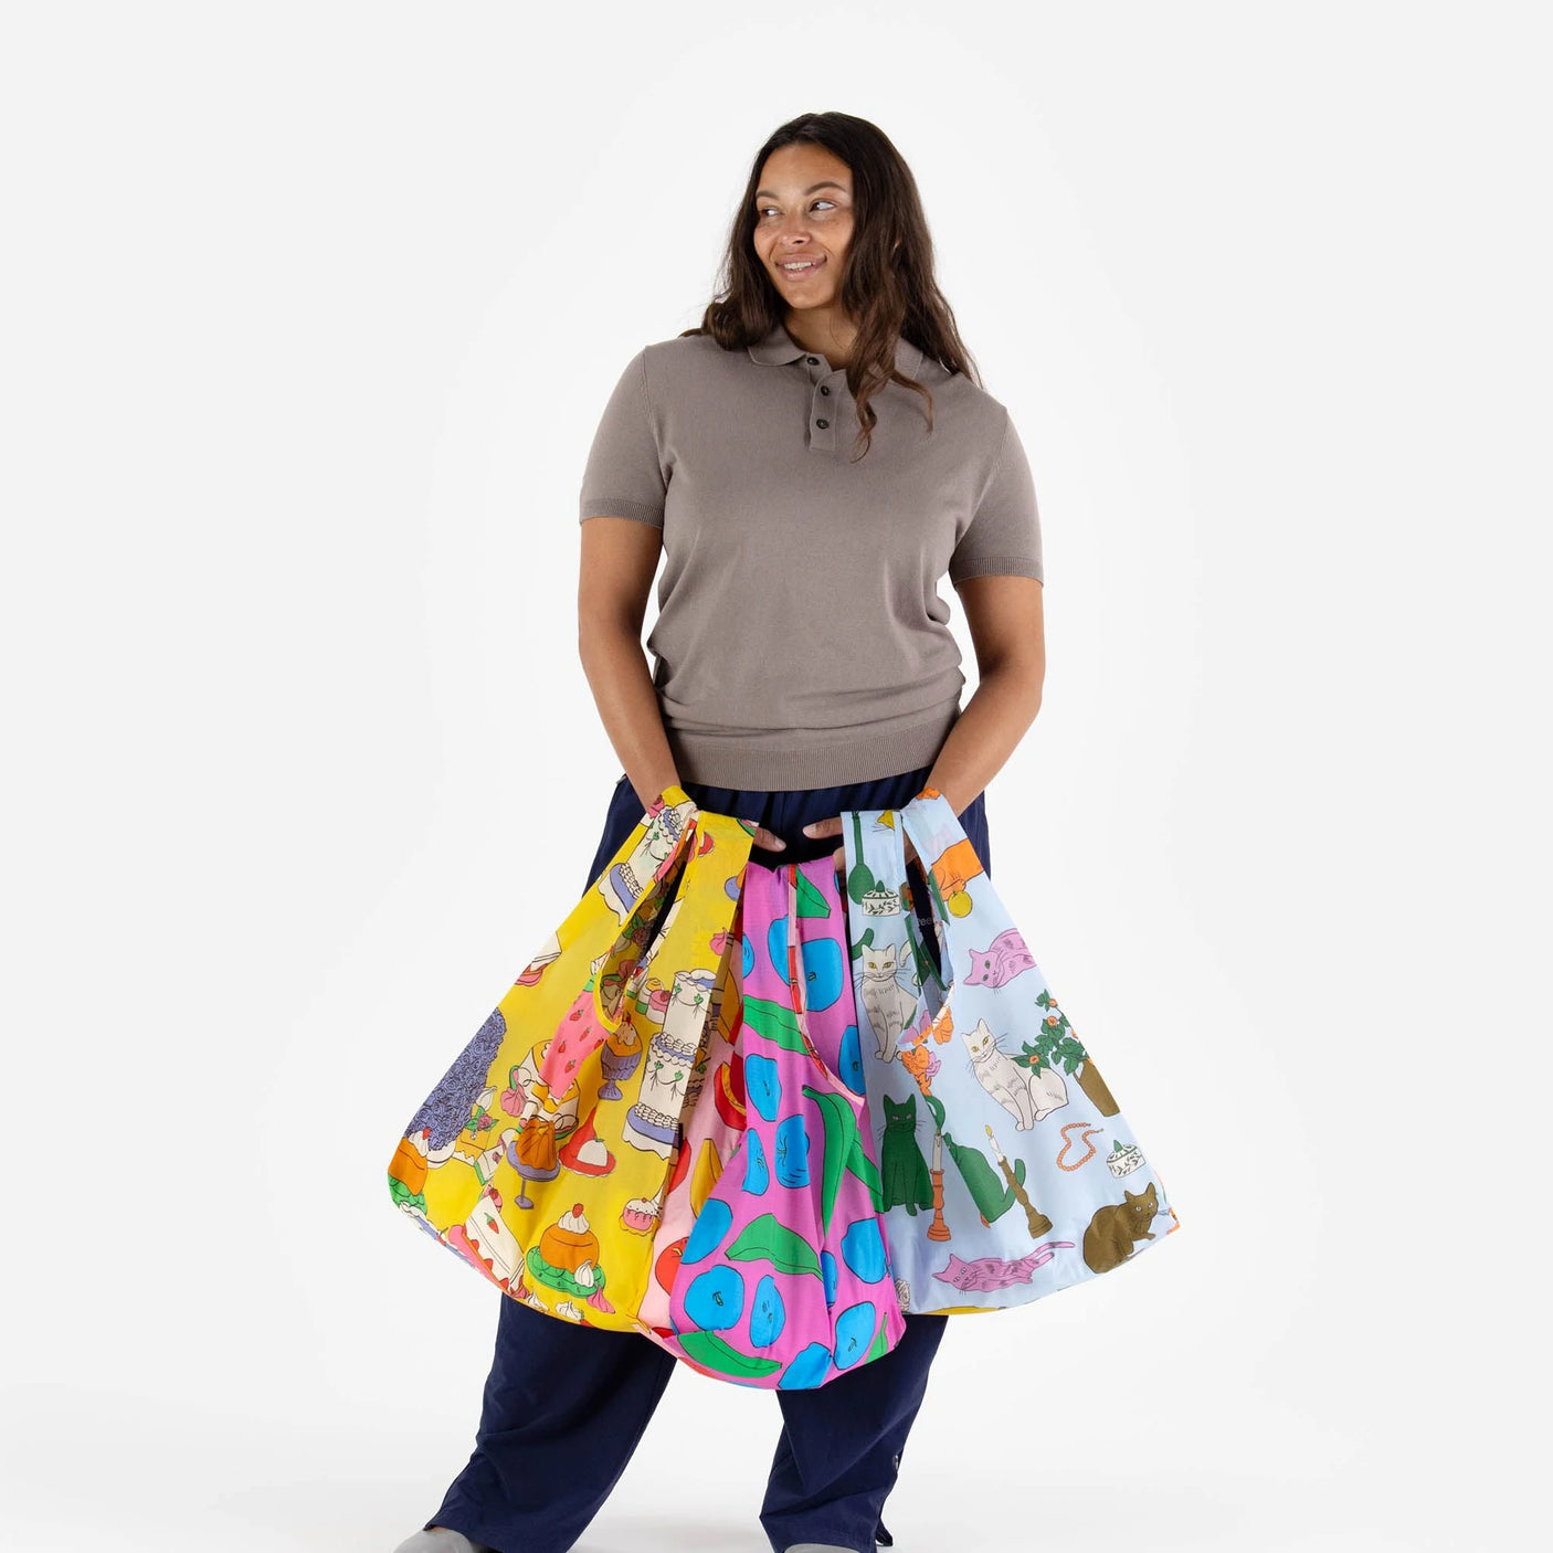
[[[766,158],[795,141],[825,146],[853,175],[854,227],[846,245],[840,304],[857,323],[846,387],[857,404],[857,458],[862,458],[879,424],[870,399],[887,384],[898,382],[919,393],[927,401],[927,430],[933,429],[933,396],[895,370],[898,337],[910,340],[950,373],[964,373],[977,385],[981,382],[955,328],[954,311],[933,280],[933,242],[916,179],[877,124],[851,113],[800,113],[772,132],[750,163],[716,295],[700,325],[682,331],[682,337],[710,334],[725,351],[745,349],[784,321],[787,303],[755,256],[755,191]]]

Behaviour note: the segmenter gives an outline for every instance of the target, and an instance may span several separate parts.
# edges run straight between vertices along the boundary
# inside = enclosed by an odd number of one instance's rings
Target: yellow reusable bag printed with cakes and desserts
[[[752,839],[666,787],[394,1149],[398,1207],[547,1315],[638,1329]]]

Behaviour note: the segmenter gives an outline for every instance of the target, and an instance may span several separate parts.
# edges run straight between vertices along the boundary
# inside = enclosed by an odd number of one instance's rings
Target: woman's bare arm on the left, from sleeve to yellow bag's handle
[[[581,528],[578,655],[609,742],[646,812],[665,787],[680,786],[641,644],[663,531],[603,514]]]

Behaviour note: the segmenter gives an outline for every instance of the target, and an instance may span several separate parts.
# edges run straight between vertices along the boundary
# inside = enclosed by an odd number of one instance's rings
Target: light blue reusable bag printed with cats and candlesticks
[[[862,1061],[902,1309],[1025,1305],[1173,1233],[1159,1173],[949,800],[924,787],[898,809],[849,811],[842,825]],[[907,837],[943,978],[918,932]]]

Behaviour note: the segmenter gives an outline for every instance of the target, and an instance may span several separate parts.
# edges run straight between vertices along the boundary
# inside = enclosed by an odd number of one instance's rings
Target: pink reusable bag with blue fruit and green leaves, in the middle
[[[690,1233],[660,1253],[669,1328],[651,1336],[717,1379],[806,1390],[905,1332],[832,859],[749,863],[736,927],[711,1101],[686,1120]],[[736,1084],[728,1115],[717,1098]],[[666,1211],[658,1241],[682,1222]]]

